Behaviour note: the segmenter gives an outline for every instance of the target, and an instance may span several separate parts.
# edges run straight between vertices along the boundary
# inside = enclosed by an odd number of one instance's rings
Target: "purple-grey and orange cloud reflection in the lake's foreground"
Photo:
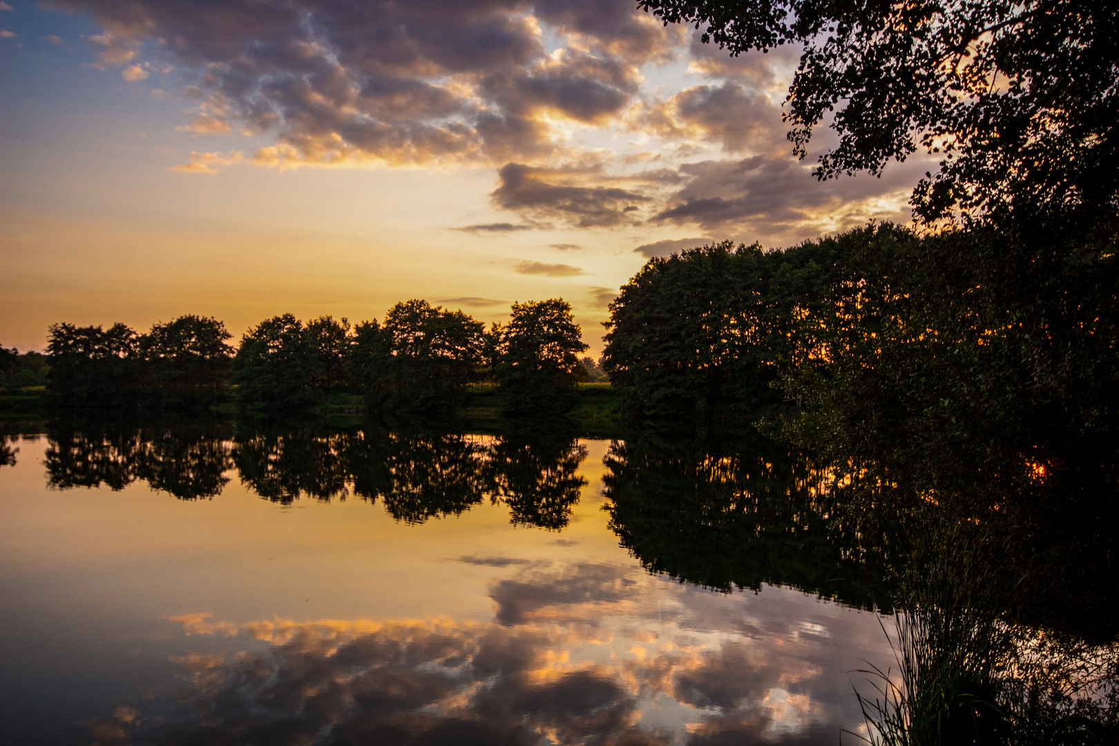
[[[700,745],[857,725],[824,674],[844,658],[831,635],[858,640],[838,607],[743,607],[594,563],[524,567],[490,597],[492,623],[177,616],[241,644],[177,657],[178,703],[122,703],[94,728],[157,744]]]

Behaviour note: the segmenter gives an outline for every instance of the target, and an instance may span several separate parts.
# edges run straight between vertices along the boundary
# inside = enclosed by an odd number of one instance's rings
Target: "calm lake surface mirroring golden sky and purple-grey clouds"
[[[7,442],[6,744],[837,744],[854,671],[892,658],[872,611],[646,569],[609,510],[618,442],[534,465],[459,436],[379,475],[285,471],[322,453],[266,437],[187,443],[171,474],[135,454],[173,437]]]

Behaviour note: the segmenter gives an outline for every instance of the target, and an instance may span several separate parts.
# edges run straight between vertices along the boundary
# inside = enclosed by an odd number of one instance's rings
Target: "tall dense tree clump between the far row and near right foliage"
[[[746,415],[817,357],[803,320],[827,305],[835,242],[764,254],[723,242],[655,257],[610,305],[603,366],[649,416]]]

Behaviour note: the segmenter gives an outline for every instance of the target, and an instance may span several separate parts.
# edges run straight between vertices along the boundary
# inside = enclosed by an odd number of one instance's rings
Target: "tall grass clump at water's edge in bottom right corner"
[[[1119,643],[1015,625],[999,541],[969,522],[928,529],[896,578],[893,664],[856,691],[875,746],[1119,745]]]

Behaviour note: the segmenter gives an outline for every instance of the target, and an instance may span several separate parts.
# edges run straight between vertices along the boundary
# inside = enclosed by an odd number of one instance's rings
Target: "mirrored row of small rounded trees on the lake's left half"
[[[511,429],[502,436],[442,431],[333,429],[274,423],[93,427],[55,423],[46,466],[57,489],[143,480],[184,500],[222,492],[232,469],[260,497],[282,504],[307,497],[383,501],[394,518],[422,523],[458,516],[489,498],[515,523],[558,530],[586,480],[586,457],[570,429]]]

